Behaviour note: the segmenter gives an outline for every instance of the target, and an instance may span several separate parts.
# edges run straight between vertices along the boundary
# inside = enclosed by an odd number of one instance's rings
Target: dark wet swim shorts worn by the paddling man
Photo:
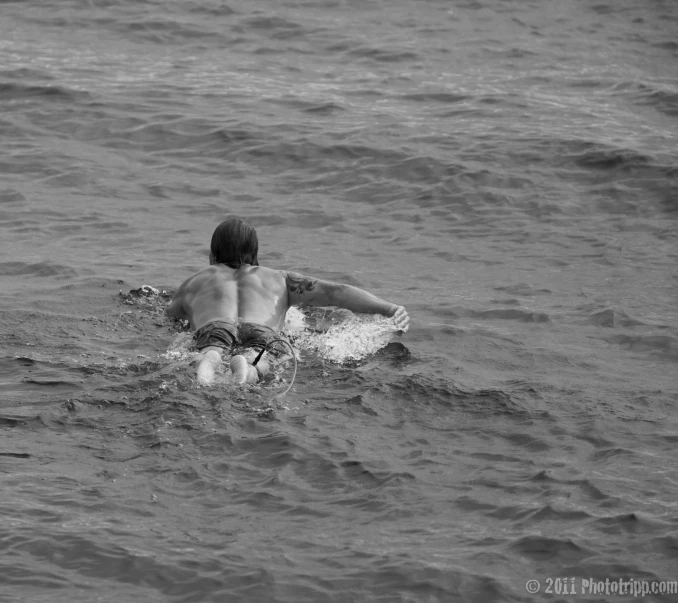
[[[232,353],[236,348],[261,348],[273,339],[286,340],[275,329],[266,325],[254,322],[243,322],[238,325],[232,321],[215,320],[195,332],[195,349],[200,351],[208,346],[216,346]],[[287,346],[280,342],[275,342],[266,349],[274,356],[289,351]]]

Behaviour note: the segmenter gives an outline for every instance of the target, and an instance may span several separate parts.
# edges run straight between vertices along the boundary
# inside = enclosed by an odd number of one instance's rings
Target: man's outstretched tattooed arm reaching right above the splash
[[[297,272],[286,272],[285,284],[290,306],[339,306],[352,312],[392,317],[402,331],[409,327],[410,318],[403,306],[380,299],[364,289],[309,278]]]

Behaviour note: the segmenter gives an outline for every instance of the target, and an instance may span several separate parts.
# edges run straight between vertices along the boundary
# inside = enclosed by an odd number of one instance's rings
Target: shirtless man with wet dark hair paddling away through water
[[[224,351],[230,355],[236,348],[258,347],[272,354],[284,352],[278,330],[290,306],[339,306],[383,314],[393,318],[397,329],[407,331],[410,318],[403,306],[351,285],[261,267],[258,251],[252,226],[236,218],[222,222],[212,235],[210,266],[186,279],[165,310],[169,316],[188,317],[196,331],[195,348],[203,353],[198,383],[214,380]],[[230,366],[237,383],[257,383],[268,371],[265,357],[253,366],[236,354]]]

